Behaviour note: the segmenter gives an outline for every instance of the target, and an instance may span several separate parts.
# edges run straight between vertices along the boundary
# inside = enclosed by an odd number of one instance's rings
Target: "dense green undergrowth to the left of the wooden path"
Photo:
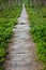
[[[6,2],[6,0],[5,0]],[[11,5],[6,6],[4,1],[1,1],[0,5],[0,70],[3,70],[3,62],[5,60],[6,48],[9,47],[10,39],[13,36],[13,27],[17,24],[17,18],[21,6]]]

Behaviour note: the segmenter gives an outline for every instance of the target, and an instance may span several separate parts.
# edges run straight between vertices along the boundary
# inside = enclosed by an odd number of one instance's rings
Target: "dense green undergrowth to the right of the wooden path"
[[[30,32],[36,42],[37,59],[44,62],[46,70],[46,6],[36,12],[36,8],[27,6],[30,23]]]

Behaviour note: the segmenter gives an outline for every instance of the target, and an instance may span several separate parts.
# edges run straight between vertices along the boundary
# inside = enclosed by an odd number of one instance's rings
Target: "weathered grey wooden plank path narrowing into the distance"
[[[5,70],[41,70],[40,65],[34,61],[35,44],[31,40],[29,30],[28,15],[24,6],[18,24],[13,29],[14,36],[5,60]]]

